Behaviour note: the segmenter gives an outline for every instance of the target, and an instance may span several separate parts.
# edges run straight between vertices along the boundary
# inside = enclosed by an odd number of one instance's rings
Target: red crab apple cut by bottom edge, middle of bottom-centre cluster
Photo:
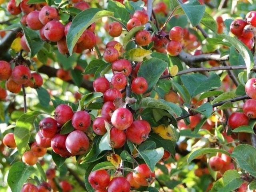
[[[130,183],[124,177],[115,177],[108,185],[108,192],[130,192],[130,189]]]

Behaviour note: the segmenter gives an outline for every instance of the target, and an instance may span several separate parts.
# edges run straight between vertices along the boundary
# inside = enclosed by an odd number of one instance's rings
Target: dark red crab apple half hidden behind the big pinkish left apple
[[[62,157],[70,157],[72,154],[68,152],[66,148],[66,139],[68,137],[68,134],[56,134],[52,140],[51,140],[51,147],[52,150],[56,153],[59,154]]]

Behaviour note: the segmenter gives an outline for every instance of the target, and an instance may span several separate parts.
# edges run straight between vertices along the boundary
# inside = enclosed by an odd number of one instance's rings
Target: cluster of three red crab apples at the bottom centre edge
[[[149,186],[154,182],[155,172],[151,172],[146,164],[140,164],[134,170],[137,173],[129,172],[125,177],[116,176],[112,180],[106,170],[96,170],[90,173],[88,181],[99,192],[130,192],[131,189]]]

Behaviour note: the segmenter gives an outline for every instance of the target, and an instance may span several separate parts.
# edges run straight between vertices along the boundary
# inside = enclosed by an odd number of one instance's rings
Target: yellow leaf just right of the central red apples
[[[163,139],[171,140],[171,141],[176,141],[176,134],[173,130],[173,128],[168,125],[167,127],[164,125],[159,125],[157,127],[153,127],[153,131],[156,134],[159,134],[160,137]]]

